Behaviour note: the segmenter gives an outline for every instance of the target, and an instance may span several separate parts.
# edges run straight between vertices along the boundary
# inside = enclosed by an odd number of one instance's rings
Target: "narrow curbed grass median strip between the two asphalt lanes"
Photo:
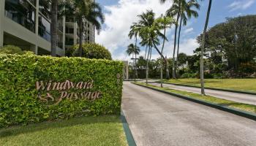
[[[146,83],[143,82],[136,82],[135,84],[140,84],[140,85],[146,85]],[[156,85],[146,85],[148,87],[151,88],[156,88],[162,91],[167,91],[170,93],[177,93],[177,94],[181,94],[183,96],[189,96],[195,99],[200,99],[203,101],[208,101],[208,102],[212,102],[214,104],[220,104],[222,106],[226,106],[226,107],[233,107],[235,109],[238,110],[244,110],[246,112],[253,112],[256,113],[256,106],[255,105],[251,105],[251,104],[243,104],[243,103],[239,103],[239,102],[235,102],[235,101],[229,101],[229,100],[225,100],[225,99],[218,99],[216,97],[213,96],[202,96],[200,94],[197,93],[191,93],[191,92],[186,92],[186,91],[177,91],[177,90],[173,90],[170,88],[161,88],[159,86]]]

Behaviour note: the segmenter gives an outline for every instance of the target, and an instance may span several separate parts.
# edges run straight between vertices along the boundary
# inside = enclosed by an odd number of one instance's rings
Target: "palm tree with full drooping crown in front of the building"
[[[80,28],[79,55],[82,56],[84,22],[85,20],[89,21],[92,25],[95,26],[99,33],[101,24],[105,21],[102,9],[98,3],[91,0],[61,1],[60,6],[63,7],[60,12],[61,15],[75,18],[75,20],[78,22],[78,26]]]

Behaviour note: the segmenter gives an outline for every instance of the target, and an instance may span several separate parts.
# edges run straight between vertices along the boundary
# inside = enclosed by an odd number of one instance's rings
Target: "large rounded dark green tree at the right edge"
[[[227,18],[206,33],[206,55],[214,64],[227,59],[227,69],[241,72],[239,67],[256,57],[256,15]],[[202,44],[202,35],[197,38]]]

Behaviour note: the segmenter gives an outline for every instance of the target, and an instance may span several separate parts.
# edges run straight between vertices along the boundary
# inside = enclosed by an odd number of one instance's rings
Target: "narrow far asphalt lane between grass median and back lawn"
[[[157,82],[148,82],[151,85],[157,85],[160,86],[160,83]],[[201,93],[200,88],[195,87],[186,87],[182,85],[170,85],[170,84],[163,84],[165,88],[172,88],[176,89],[178,91],[188,91],[192,93]],[[256,95],[250,95],[245,93],[233,93],[233,92],[227,92],[227,91],[216,91],[211,89],[205,89],[206,95],[208,96],[214,96],[219,99],[227,99],[230,101],[236,101],[241,102],[244,104],[254,104],[256,105]],[[256,144],[255,144],[256,145]]]

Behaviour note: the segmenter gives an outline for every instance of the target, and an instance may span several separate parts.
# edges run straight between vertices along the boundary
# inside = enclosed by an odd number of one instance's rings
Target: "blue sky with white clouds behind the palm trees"
[[[167,0],[160,4],[159,0],[96,0],[105,14],[105,23],[102,31],[96,36],[96,42],[104,45],[110,50],[114,60],[130,61],[132,56],[126,53],[127,46],[135,43],[135,39],[129,39],[129,27],[137,22],[137,15],[146,12],[146,9],[153,9],[156,17],[165,14],[166,10],[173,4]],[[208,0],[200,1],[199,17],[188,20],[187,26],[181,28],[180,52],[192,55],[199,45],[196,38],[203,32],[206,21]],[[226,18],[239,15],[256,15],[256,0],[213,0],[208,28],[217,23],[225,22]],[[165,45],[163,55],[173,56],[174,26],[167,30],[168,42]],[[140,41],[140,40],[139,40]],[[140,55],[145,54],[145,47],[140,47]],[[159,46],[160,47],[160,46]],[[152,50],[152,58],[159,58],[157,51]]]

